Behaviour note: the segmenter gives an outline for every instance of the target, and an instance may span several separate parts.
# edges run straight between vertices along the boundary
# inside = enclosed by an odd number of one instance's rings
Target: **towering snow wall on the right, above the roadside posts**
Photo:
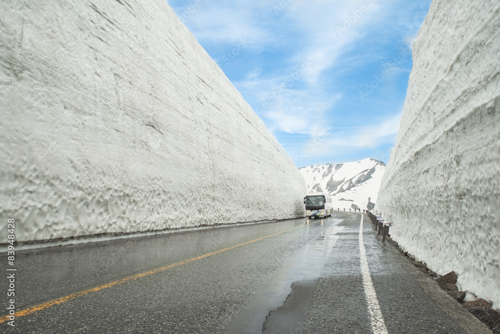
[[[500,4],[434,1],[375,209],[392,237],[500,307]]]

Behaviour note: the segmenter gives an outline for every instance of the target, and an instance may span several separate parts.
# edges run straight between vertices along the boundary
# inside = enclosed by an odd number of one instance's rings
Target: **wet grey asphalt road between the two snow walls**
[[[17,252],[16,311],[103,288],[18,316],[13,328],[0,323],[0,332],[370,333],[360,217],[335,212],[327,219]],[[387,332],[466,332],[387,255],[366,217],[362,231]],[[0,265],[6,268],[3,255]]]

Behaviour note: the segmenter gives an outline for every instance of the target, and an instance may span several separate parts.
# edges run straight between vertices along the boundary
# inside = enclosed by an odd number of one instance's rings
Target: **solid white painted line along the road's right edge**
[[[371,281],[368,259],[364,251],[363,244],[363,215],[361,214],[361,223],[359,224],[359,257],[361,259],[361,275],[363,276],[364,296],[368,304],[368,313],[370,314],[371,329],[374,334],[387,334],[387,327],[383,321],[382,311],[376,298],[375,288]]]

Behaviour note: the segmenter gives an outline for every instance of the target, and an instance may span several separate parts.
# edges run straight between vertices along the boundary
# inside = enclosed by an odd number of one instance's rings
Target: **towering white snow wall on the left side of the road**
[[[164,0],[0,3],[0,243],[303,216],[291,159]]]

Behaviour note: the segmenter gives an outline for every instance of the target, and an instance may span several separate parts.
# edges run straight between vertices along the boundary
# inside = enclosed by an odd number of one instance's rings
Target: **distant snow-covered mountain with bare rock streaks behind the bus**
[[[334,210],[340,208],[349,211],[350,208],[373,208],[385,164],[374,159],[364,159],[343,164],[308,166],[298,170],[305,180],[307,192],[330,194]]]

